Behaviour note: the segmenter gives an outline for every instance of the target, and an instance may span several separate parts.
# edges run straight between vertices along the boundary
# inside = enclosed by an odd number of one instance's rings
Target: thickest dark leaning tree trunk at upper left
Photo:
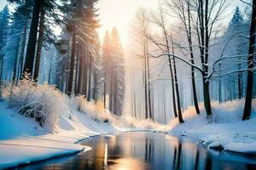
[[[24,65],[24,70],[32,74],[33,65],[34,65],[34,55],[36,51],[37,36],[38,36],[38,22],[40,8],[42,5],[42,0],[34,0],[33,12],[32,12],[32,21],[30,26],[29,38],[26,48],[26,60]]]

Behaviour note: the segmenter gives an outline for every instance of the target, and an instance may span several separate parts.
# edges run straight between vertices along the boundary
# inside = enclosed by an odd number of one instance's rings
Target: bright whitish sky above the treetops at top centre
[[[113,26],[119,30],[121,42],[127,44],[129,41],[129,30],[131,20],[135,17],[137,8],[144,7],[148,9],[157,8],[159,0],[99,0],[96,8],[99,8],[98,14],[101,20],[99,34],[101,39],[106,31],[111,31]],[[234,0],[233,5],[239,0]],[[0,0],[0,9],[4,7],[6,0]]]

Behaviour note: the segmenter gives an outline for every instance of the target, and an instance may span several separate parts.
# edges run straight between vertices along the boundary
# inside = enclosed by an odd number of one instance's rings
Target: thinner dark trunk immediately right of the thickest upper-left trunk
[[[38,48],[36,54],[36,65],[33,79],[34,81],[38,81],[39,68],[40,68],[40,57],[43,46],[43,38],[44,38],[44,3],[42,3],[41,7],[41,16],[40,16],[40,24],[39,24],[39,36],[38,36]]]

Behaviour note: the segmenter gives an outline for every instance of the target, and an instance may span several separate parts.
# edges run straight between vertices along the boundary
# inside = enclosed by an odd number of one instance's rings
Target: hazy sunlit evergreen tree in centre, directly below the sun
[[[125,59],[119,32],[114,27],[111,37],[108,31],[102,44],[102,65],[104,72],[104,104],[108,96],[108,110],[121,116],[125,98]]]

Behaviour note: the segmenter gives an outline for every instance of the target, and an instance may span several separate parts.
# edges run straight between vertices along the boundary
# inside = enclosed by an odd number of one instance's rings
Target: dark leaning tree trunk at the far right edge
[[[247,91],[242,120],[251,116],[253,99],[253,58],[255,53],[256,0],[253,0],[253,14],[250,28],[249,56],[247,58]]]

